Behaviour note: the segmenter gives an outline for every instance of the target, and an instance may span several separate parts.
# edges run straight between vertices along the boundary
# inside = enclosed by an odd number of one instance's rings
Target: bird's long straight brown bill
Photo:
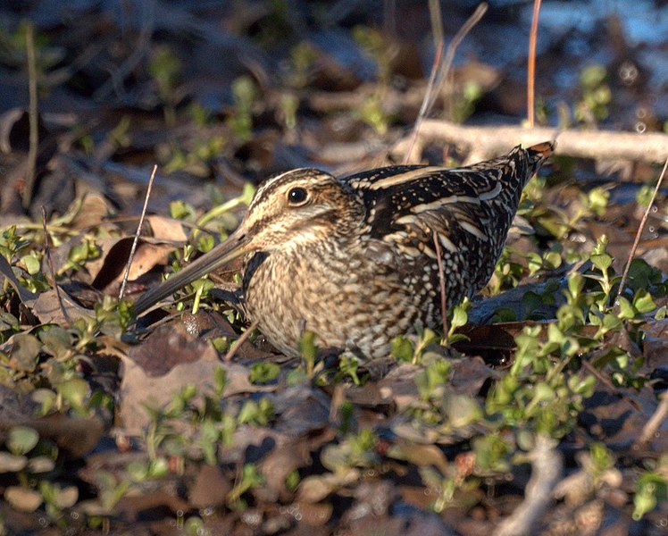
[[[161,285],[142,294],[135,302],[135,314],[144,313],[146,309],[170,296],[176,290],[185,287],[188,283],[196,281],[203,275],[213,272],[216,268],[230,263],[241,255],[245,255],[250,251],[249,244],[250,238],[246,235],[246,230],[243,229],[242,225],[230,234],[227,240],[213,247],[211,251],[199,257],[194,263],[188,264],[180,272],[172,274]]]

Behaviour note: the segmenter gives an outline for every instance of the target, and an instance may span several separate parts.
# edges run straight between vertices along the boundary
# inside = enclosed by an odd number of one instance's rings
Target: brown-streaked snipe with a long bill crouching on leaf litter
[[[449,311],[487,284],[522,189],[554,150],[548,141],[470,166],[392,165],[341,179],[277,174],[228,239],[146,290],[135,314],[243,257],[247,314],[281,353],[299,356],[308,330],[320,348],[387,358],[397,336],[441,325],[442,294]]]

